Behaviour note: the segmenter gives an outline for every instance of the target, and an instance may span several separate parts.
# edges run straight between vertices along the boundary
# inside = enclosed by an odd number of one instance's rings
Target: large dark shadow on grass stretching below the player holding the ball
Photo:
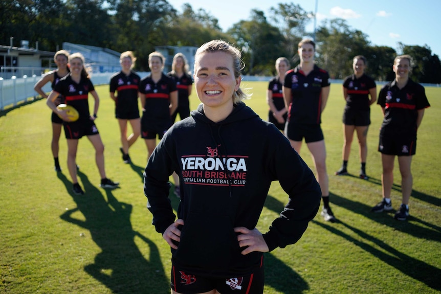
[[[87,176],[78,172],[84,186],[84,195],[73,195],[77,208],[66,211],[60,218],[89,230],[94,242],[101,248],[95,262],[84,266],[86,273],[100,281],[113,293],[160,293],[169,289],[169,280],[155,243],[134,231],[130,214],[132,206],[119,202],[112,190],[102,191],[93,186]],[[72,183],[61,173],[58,177],[72,195]],[[80,211],[85,220],[72,217]],[[140,238],[149,246],[150,256],[146,260],[135,243]],[[159,290],[161,289],[161,290]],[[163,291],[168,293],[169,290]]]

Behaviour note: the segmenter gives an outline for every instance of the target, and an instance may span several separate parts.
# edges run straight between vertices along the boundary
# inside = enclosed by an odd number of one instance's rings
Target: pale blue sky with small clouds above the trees
[[[203,8],[219,20],[226,31],[239,20],[250,19],[251,9],[258,9],[270,16],[270,7],[289,1],[269,0],[167,0],[182,11],[184,3],[190,3],[194,11]],[[307,12],[315,12],[317,1],[317,27],[323,19],[343,18],[352,29],[368,35],[372,45],[389,46],[398,50],[398,42],[406,45],[427,44],[432,54],[441,58],[441,1],[439,0],[297,0]],[[306,27],[313,31],[314,20]],[[401,52],[398,52],[401,53]]]

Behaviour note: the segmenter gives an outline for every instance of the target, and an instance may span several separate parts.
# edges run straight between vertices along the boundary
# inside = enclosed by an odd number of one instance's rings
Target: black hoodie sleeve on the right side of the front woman
[[[291,147],[288,139],[280,136],[270,159],[270,171],[288,194],[289,199],[269,232],[263,235],[270,251],[296,243],[305,232],[320,207],[321,190],[311,169]],[[276,141],[277,142],[277,141]]]

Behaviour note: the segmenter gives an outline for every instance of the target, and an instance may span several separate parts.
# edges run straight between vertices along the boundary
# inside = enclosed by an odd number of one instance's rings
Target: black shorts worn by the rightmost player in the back
[[[378,151],[387,155],[410,156],[416,152],[416,135],[384,134],[380,130]]]

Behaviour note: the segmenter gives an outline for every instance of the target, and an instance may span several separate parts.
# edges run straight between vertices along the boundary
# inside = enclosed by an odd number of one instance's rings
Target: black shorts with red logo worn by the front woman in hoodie
[[[263,265],[242,277],[212,278],[196,276],[171,266],[170,287],[182,294],[196,294],[216,289],[222,294],[262,294],[264,284]]]

